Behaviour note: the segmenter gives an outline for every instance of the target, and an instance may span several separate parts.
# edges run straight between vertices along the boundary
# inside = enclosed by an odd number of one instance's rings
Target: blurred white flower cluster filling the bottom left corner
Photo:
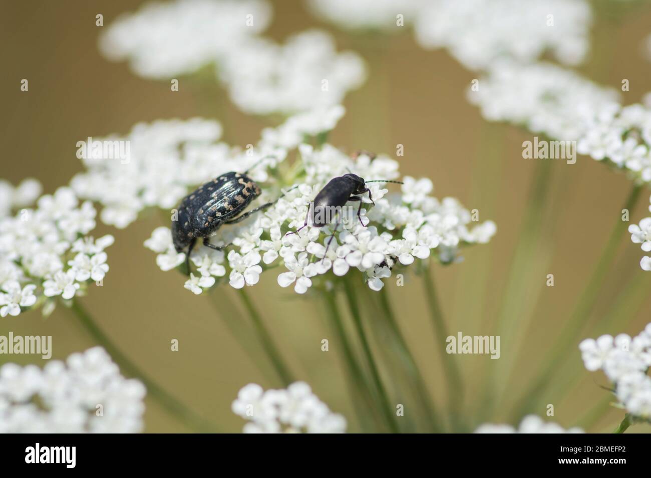
[[[135,433],[145,386],[94,347],[66,362],[0,367],[0,433]]]

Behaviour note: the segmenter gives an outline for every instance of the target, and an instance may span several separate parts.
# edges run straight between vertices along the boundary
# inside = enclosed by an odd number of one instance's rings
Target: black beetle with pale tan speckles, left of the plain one
[[[264,158],[263,158],[264,159]],[[186,267],[190,271],[190,254],[197,239],[203,239],[203,245],[215,250],[226,246],[210,244],[209,237],[222,224],[240,222],[253,213],[273,205],[268,202],[251,211],[242,213],[249,203],[260,196],[260,187],[247,176],[249,170],[227,172],[199,186],[188,194],[178,206],[177,220],[172,221],[172,239],[176,252],[187,248]]]

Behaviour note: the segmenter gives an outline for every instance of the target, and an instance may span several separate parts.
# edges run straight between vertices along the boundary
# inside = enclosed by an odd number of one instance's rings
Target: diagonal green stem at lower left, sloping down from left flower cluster
[[[74,313],[79,323],[83,328],[85,328],[90,336],[104,347],[115,363],[118,364],[120,370],[143,382],[147,389],[147,394],[158,401],[158,403],[160,403],[168,412],[182,421],[182,423],[190,429],[198,432],[217,432],[214,425],[195,414],[192,410],[187,408],[187,406],[167,393],[165,389],[149,378],[137,365],[133,364],[133,362],[113,344],[113,341],[102,332],[102,329],[92,319],[86,308],[79,303],[79,300],[72,301],[70,310]]]

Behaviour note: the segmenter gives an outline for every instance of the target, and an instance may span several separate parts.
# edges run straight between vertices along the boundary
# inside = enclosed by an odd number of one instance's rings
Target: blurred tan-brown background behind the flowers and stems
[[[255,144],[260,129],[270,122],[240,113],[216,81],[182,77],[180,91],[171,92],[169,83],[141,79],[125,62],[112,63],[100,56],[97,40],[101,27],[95,26],[95,15],[102,13],[104,24],[109,25],[118,14],[140,4],[125,0],[2,1],[0,176],[14,184],[33,176],[51,193],[81,170],[75,155],[78,140],[127,133],[136,122],[158,118],[216,118],[222,122],[229,144]],[[339,49],[353,49],[367,60],[367,83],[346,97],[348,113],[330,139],[335,146],[348,152],[365,149],[395,155],[396,144],[404,144],[402,174],[431,178],[437,197],[459,198],[468,209],[479,209],[481,220],[497,223],[497,235],[489,245],[466,250],[463,263],[436,267],[435,271],[450,332],[493,334],[536,161],[522,159],[521,142],[533,135],[483,122],[478,109],[465,100],[465,91],[477,73],[464,70],[445,51],[424,51],[408,29],[402,34],[365,37],[320,23],[301,1],[275,1],[273,8],[269,36],[283,40],[308,27],[324,27],[335,35]],[[644,38],[651,33],[651,9],[641,7],[619,25],[598,18],[597,25],[596,49],[581,71],[615,88],[622,79],[629,79],[630,92],[623,94],[624,101],[640,101],[651,90],[651,63],[641,50]],[[29,80],[27,93],[20,91],[23,78]],[[585,157],[579,157],[575,165],[554,162],[551,169],[551,198],[540,217],[539,247],[531,257],[531,271],[539,274],[540,280],[527,289],[528,307],[522,312],[523,319],[533,312],[533,321],[526,328],[518,323],[521,341],[516,349],[523,353],[503,353],[500,360],[485,355],[455,357],[467,386],[465,410],[471,422],[480,405],[478,389],[486,367],[516,364],[506,400],[491,421],[505,418],[510,400],[534,378],[542,354],[561,333],[577,295],[589,280],[630,189],[630,181],[622,174]],[[647,199],[645,190],[631,211],[631,222],[646,215]],[[143,246],[159,225],[158,215],[146,215],[126,230],[98,224],[96,237],[112,233],[116,238],[107,250],[111,271],[103,287],[90,287],[88,297],[81,300],[133,362],[221,429],[239,432],[243,421],[230,412],[230,403],[240,387],[249,382],[265,388],[278,384],[256,369],[207,297],[196,297],[184,289],[182,276],[159,271],[154,254]],[[607,331],[611,334],[635,335],[651,317],[646,293],[651,274],[641,271],[643,252],[628,237],[620,243],[618,260],[590,323],[598,323],[620,287],[631,278],[644,285],[637,288],[635,297],[625,299],[633,312],[618,319]],[[482,261],[488,272],[477,276],[475,266]],[[549,273],[555,276],[555,287],[545,287]],[[309,382],[332,410],[343,413],[355,431],[355,412],[333,334],[320,314],[322,303],[309,295],[298,298],[291,288],[280,289],[276,276],[274,272],[263,274],[260,284],[248,289],[249,293],[264,312],[296,377]],[[445,381],[435,347],[445,347],[445,338],[434,341],[421,280],[407,276],[404,287],[391,285],[389,291],[430,392],[437,403],[443,403]],[[53,358],[65,358],[94,345],[61,306],[48,319],[40,312],[0,319],[0,334],[9,331],[53,336]],[[583,336],[595,333],[587,331]],[[174,338],[180,343],[178,352],[170,351]],[[329,352],[320,349],[323,338],[330,339]],[[502,347],[505,349],[504,343]],[[29,356],[0,356],[0,361],[7,358],[43,365],[42,360]],[[568,364],[580,364],[580,360],[574,349]],[[565,397],[546,397],[546,403],[555,405],[553,420],[566,427],[607,394],[599,388],[607,384],[602,375],[583,371],[579,377]],[[400,403],[401,393],[392,390],[396,403]],[[530,411],[544,416],[546,410]],[[609,431],[621,418],[620,412],[611,410],[591,431]],[[187,431],[150,399],[145,420],[148,432]],[[645,427],[632,431],[645,431]]]

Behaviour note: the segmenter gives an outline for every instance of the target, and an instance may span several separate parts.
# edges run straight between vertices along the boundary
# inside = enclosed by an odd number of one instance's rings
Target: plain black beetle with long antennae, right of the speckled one
[[[364,224],[362,222],[362,217],[361,217],[362,198],[360,194],[368,193],[368,198],[370,199],[370,202],[373,205],[375,205],[375,203],[373,202],[373,197],[370,193],[370,189],[366,187],[367,183],[402,184],[402,182],[400,181],[388,181],[388,180],[385,181],[383,179],[378,179],[374,181],[365,181],[364,178],[361,178],[360,176],[357,176],[357,174],[353,174],[352,172],[348,174],[344,174],[344,176],[338,176],[337,178],[330,179],[330,181],[323,187],[323,189],[319,191],[318,194],[316,194],[316,198],[314,198],[314,201],[312,201],[311,211],[308,213],[307,217],[305,217],[305,223],[303,224],[303,226],[298,228],[296,232],[288,233],[288,235],[298,233],[301,229],[305,228],[307,226],[307,222],[310,216],[312,216],[312,225],[314,227],[322,228],[323,226],[326,226],[326,224],[329,224],[329,222],[327,222],[326,220],[322,220],[322,218],[331,217],[329,211],[332,211],[333,209],[340,210],[349,201],[355,201],[355,202],[359,201],[359,207],[357,208],[357,218],[359,219],[359,222],[362,224],[362,226],[365,227],[368,226],[368,224]],[[337,212],[336,215],[338,213],[339,212]],[[333,231],[329,241],[327,242],[326,253],[330,247],[330,243],[335,237],[335,232],[337,232],[337,228],[339,228],[339,221],[337,221],[337,219],[335,219],[335,221],[337,222],[337,225],[335,226],[335,230]],[[324,254],[323,259],[325,258],[326,255]]]

